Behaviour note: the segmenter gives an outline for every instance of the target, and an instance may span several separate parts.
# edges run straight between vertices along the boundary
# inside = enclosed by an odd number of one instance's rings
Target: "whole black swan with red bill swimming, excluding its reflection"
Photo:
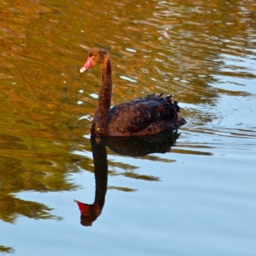
[[[101,65],[101,85],[95,109],[91,134],[94,136],[143,136],[167,129],[175,130],[186,124],[179,117],[178,102],[172,95],[147,95],[119,104],[110,109],[112,94],[111,60],[104,49],[92,48],[80,72],[92,65]]]

